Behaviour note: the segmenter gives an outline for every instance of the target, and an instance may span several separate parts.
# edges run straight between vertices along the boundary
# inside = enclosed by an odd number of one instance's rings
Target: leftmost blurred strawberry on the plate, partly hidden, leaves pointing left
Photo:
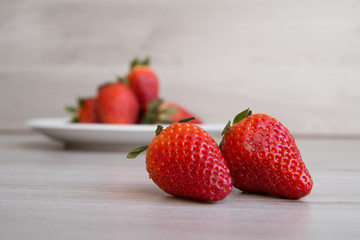
[[[98,123],[99,117],[96,113],[96,98],[79,98],[77,107],[67,106],[66,110],[74,116],[72,122]]]

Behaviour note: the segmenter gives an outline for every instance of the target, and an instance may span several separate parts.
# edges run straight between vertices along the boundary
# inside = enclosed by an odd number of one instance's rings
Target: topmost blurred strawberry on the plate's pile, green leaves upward
[[[127,76],[129,86],[139,99],[143,111],[147,109],[149,102],[158,98],[159,94],[159,80],[149,64],[149,58],[143,61],[135,59],[131,63],[131,71]]]

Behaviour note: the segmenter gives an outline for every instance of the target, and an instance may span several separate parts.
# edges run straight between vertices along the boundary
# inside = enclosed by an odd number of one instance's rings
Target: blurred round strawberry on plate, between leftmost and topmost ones
[[[109,124],[134,124],[139,118],[139,102],[122,82],[106,83],[98,90],[96,101],[100,121]]]

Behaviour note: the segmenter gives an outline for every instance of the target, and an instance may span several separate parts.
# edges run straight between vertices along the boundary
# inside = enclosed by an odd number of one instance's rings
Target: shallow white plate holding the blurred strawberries
[[[140,145],[149,144],[156,124],[84,124],[67,118],[32,119],[27,125],[51,139],[70,145]],[[221,137],[223,124],[201,124],[215,139]],[[165,126],[166,127],[166,126]]]

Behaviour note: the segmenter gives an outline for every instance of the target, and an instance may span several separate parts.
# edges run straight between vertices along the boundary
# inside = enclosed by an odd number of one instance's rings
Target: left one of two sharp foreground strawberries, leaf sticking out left
[[[232,190],[229,169],[208,132],[191,123],[161,126],[148,146],[135,149],[128,158],[147,149],[146,169],[166,193],[180,198],[219,201]]]

